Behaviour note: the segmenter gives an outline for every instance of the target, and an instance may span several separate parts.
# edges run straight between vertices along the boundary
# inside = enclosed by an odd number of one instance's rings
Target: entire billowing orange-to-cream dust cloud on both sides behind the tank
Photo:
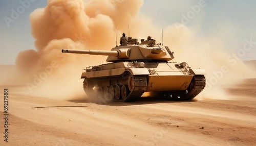
[[[151,35],[160,42],[162,28],[156,28],[150,18],[140,14],[142,5],[143,1],[138,0],[49,0],[45,8],[30,14],[36,51],[18,54],[20,82],[34,95],[60,100],[82,98],[82,68],[105,63],[106,57],[62,54],[61,50],[110,50],[116,45],[115,30],[119,38],[122,32],[127,34],[128,25],[131,36],[141,39]],[[248,70],[242,60],[227,60],[229,54],[221,40],[198,36],[183,25],[177,29],[177,25],[181,24],[164,28],[165,45],[175,52],[173,61],[205,68],[207,87],[199,98],[220,96],[222,83],[232,84],[234,78],[247,75],[248,71],[237,69]]]

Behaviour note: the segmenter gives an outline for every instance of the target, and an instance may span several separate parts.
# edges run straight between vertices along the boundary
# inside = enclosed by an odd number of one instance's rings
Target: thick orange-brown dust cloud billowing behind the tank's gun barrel
[[[115,29],[121,35],[142,4],[137,0],[48,1],[45,8],[30,14],[36,51],[18,54],[19,82],[33,95],[63,100],[83,96],[82,68],[105,63],[106,57],[62,54],[61,50],[110,50],[116,45]]]

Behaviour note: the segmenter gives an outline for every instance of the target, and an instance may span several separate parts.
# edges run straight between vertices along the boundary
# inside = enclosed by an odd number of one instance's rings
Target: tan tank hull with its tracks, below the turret
[[[191,85],[191,82],[195,82],[195,77],[200,76],[198,80],[198,86],[200,90],[197,90],[196,95],[203,90],[205,86],[204,75],[195,75],[190,67],[181,67],[181,63],[176,62],[118,62],[110,64],[102,64],[99,66],[89,66],[86,72],[82,72],[81,78],[84,79],[86,84],[84,90],[90,96],[93,95],[89,92],[95,92],[93,90],[99,90],[100,96],[111,98],[116,101],[135,101],[144,92],[163,91],[163,96],[170,96],[173,98],[173,94],[178,94],[176,100],[182,99],[184,92],[188,94],[188,90],[192,91],[196,86],[196,83]],[[197,72],[198,71],[197,69]],[[201,73],[202,74],[201,70]],[[113,90],[115,88],[115,90]],[[119,89],[118,89],[119,88]],[[189,88],[189,89],[188,89]],[[108,90],[104,91],[103,90]],[[113,90],[110,94],[109,90]],[[125,91],[124,91],[125,90]],[[183,93],[179,93],[179,92]],[[101,93],[102,92],[102,93]],[[119,95],[115,95],[115,92],[119,92]],[[183,95],[184,96],[184,95]],[[195,97],[189,96],[186,100],[191,100]]]

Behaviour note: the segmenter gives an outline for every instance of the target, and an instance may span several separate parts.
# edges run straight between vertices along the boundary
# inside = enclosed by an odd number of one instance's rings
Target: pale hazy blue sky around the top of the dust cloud
[[[198,3],[197,0],[145,0],[140,12],[150,17],[156,27],[162,28],[181,22],[182,14],[186,15],[191,7]],[[4,18],[11,18],[12,9],[17,10],[21,4],[18,0],[0,0],[0,65],[15,64],[16,56],[20,51],[35,48],[29,14],[36,8],[44,8],[46,5],[47,1],[37,0],[30,3],[30,6],[24,9],[24,13],[19,14],[8,27]],[[256,42],[255,8],[256,1],[253,0],[205,0],[205,7],[201,8],[200,13],[186,26],[194,28],[201,36],[209,37],[214,34],[224,42],[224,48],[228,53],[235,53],[243,47],[245,39],[252,38]],[[218,34],[216,30],[224,32],[223,34],[231,32],[232,38],[230,39],[230,35]],[[256,60],[256,44],[243,56],[243,60]]]

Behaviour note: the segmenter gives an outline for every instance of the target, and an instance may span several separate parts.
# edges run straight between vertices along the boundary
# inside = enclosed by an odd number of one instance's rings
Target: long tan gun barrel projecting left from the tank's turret
[[[74,53],[74,54],[90,54],[90,55],[105,55],[115,56],[117,58],[129,58],[130,48],[122,48],[114,51],[103,51],[103,50],[61,50],[62,53]]]

